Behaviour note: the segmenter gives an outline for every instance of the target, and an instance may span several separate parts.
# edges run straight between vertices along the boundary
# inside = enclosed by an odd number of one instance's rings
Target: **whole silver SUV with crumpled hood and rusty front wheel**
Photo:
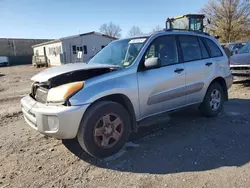
[[[163,113],[199,105],[216,116],[232,76],[216,39],[162,31],[110,43],[88,64],[50,68],[32,77],[21,100],[26,122],[42,134],[73,139],[90,155],[120,150],[130,133]]]

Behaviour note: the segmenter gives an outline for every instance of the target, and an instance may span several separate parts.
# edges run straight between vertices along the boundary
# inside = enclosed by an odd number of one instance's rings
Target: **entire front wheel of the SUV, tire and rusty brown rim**
[[[84,115],[77,140],[90,155],[104,158],[125,145],[130,131],[126,109],[118,103],[102,101],[90,107]]]

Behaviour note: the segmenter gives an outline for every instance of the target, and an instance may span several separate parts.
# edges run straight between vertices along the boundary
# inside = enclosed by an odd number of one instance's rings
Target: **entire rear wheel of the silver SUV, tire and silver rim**
[[[219,83],[213,83],[209,86],[206,96],[200,105],[202,115],[206,117],[217,116],[224,104],[224,94]]]

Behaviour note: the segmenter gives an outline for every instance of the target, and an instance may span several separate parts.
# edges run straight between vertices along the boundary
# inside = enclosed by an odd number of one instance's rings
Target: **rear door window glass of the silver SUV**
[[[183,61],[195,61],[201,59],[201,49],[197,37],[179,36]]]

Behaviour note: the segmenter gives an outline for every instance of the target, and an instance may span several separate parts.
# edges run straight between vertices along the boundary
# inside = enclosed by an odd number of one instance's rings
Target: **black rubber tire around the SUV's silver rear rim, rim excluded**
[[[211,99],[212,92],[214,92],[215,90],[219,91],[221,100],[220,100],[220,104],[218,105],[218,108],[216,110],[213,110],[212,106],[210,105],[210,99]],[[217,116],[223,108],[224,101],[225,101],[225,96],[224,96],[224,92],[223,92],[221,85],[217,82],[212,83],[207,90],[207,93],[204,97],[203,102],[200,105],[201,114],[205,117]]]

